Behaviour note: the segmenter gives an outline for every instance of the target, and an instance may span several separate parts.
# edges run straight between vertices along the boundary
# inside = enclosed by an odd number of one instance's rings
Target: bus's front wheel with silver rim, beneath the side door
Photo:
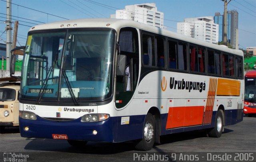
[[[156,134],[154,132],[156,130],[155,123],[156,122],[154,120],[153,115],[151,113],[148,113],[144,121],[143,138],[136,144],[135,146],[136,150],[140,150],[140,151],[151,150],[155,142],[155,134]]]

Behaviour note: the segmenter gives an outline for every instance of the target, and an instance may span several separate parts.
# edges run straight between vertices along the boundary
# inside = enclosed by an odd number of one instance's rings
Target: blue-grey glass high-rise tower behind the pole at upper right
[[[219,24],[219,42],[223,38],[223,15],[219,12],[215,13],[214,23]],[[236,29],[238,29],[238,12],[236,10],[227,11],[227,42],[233,47],[236,46]]]

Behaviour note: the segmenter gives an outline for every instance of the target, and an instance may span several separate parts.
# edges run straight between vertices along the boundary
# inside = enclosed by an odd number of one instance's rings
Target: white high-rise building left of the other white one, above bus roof
[[[134,20],[164,28],[164,13],[157,10],[155,3],[128,5],[124,10],[116,10],[116,14],[110,18]]]

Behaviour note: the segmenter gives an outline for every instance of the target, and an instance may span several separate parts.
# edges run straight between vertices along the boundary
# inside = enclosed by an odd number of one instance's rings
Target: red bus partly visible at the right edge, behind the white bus
[[[244,113],[248,116],[256,114],[256,70],[251,70],[244,75]]]

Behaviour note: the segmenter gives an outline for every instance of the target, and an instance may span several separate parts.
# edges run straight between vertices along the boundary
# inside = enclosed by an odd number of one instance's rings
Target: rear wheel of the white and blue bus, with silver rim
[[[209,137],[219,138],[223,132],[223,124],[224,123],[224,112],[222,110],[218,110],[215,118],[215,125],[212,130],[209,131]]]

